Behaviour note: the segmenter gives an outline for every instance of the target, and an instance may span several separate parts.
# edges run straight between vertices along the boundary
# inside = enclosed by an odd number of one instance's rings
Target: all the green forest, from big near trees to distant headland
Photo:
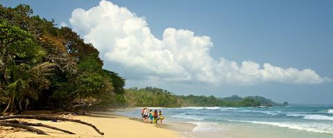
[[[275,106],[264,97],[183,96],[160,88],[124,89],[103,69],[99,51],[71,28],[33,14],[30,6],[0,5],[0,111],[83,112],[137,106]]]

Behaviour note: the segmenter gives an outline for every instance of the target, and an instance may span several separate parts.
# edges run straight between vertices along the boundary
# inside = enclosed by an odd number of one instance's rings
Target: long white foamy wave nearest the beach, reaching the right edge
[[[228,121],[237,121],[237,120],[228,120]],[[268,122],[268,121],[238,121],[244,123],[252,124],[264,124],[270,126],[278,126],[281,128],[290,128],[295,130],[306,130],[309,132],[321,132],[333,134],[333,128],[330,124],[297,124],[294,122]]]

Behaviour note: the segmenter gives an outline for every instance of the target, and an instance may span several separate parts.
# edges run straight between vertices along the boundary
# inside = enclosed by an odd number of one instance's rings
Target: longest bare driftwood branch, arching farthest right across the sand
[[[104,135],[104,132],[101,132],[96,126],[93,124],[89,124],[85,121],[80,121],[79,119],[67,119],[64,117],[56,117],[56,116],[46,116],[46,115],[12,115],[12,116],[3,116],[0,117],[0,120],[6,120],[6,119],[37,119],[37,120],[62,120],[62,121],[72,121],[76,122],[78,124],[84,124],[87,126],[90,126],[96,130],[100,135]]]

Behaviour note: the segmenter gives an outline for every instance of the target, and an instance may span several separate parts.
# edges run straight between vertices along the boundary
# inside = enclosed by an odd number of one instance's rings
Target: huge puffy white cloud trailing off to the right
[[[166,28],[162,39],[157,39],[144,17],[110,1],[101,1],[89,10],[75,9],[69,22],[87,43],[99,49],[105,62],[118,63],[146,78],[214,85],[330,81],[311,69],[214,59],[209,53],[213,46],[210,37],[195,36],[190,30]]]

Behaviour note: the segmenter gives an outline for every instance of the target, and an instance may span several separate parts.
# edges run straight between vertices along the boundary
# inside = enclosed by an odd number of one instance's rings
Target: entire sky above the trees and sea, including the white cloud
[[[126,87],[333,104],[333,1],[13,1],[99,49]]]

